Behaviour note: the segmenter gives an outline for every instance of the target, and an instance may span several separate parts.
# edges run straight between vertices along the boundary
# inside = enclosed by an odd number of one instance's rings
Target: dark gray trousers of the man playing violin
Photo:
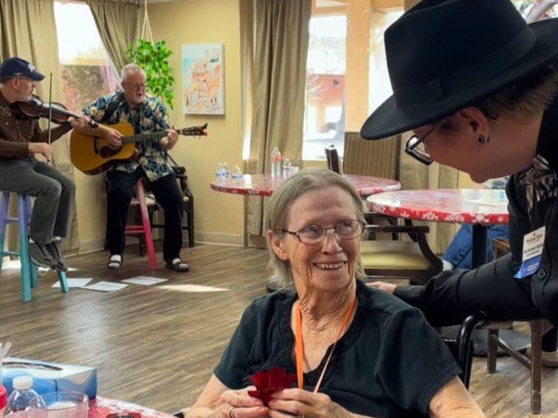
[[[35,158],[1,160],[0,190],[33,196],[29,237],[40,245],[53,235],[67,237],[75,203],[75,183]]]

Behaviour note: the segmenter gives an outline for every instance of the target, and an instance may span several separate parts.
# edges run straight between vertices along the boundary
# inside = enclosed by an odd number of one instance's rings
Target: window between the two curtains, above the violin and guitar
[[[119,80],[85,3],[54,2],[64,103],[80,111]]]

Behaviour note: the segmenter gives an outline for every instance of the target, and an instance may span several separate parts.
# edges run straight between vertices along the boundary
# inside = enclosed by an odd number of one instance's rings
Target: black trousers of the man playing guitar
[[[133,198],[135,183],[140,177],[146,178],[141,168],[133,173],[117,170],[107,172],[107,247],[111,255],[124,252],[128,206]],[[180,256],[182,248],[182,194],[174,174],[153,182],[145,181],[165,213],[163,258],[170,261]]]

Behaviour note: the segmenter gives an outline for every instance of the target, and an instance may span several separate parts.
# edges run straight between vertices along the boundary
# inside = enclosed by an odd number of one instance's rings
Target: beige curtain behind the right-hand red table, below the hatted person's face
[[[409,10],[420,0],[405,0],[405,10]],[[400,158],[400,180],[403,189],[456,189],[459,187],[459,171],[451,167],[433,163],[425,166],[403,152],[410,134],[402,134],[402,149]],[[413,222],[420,224],[421,222]],[[428,243],[437,254],[442,254],[455,235],[455,224],[437,222],[426,223],[430,226]]]

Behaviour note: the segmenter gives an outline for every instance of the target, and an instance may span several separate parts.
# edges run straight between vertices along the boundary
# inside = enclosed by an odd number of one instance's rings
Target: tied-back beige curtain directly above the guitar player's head
[[[140,6],[113,1],[87,1],[97,24],[100,38],[107,49],[116,72],[128,63],[126,46],[139,34]]]

